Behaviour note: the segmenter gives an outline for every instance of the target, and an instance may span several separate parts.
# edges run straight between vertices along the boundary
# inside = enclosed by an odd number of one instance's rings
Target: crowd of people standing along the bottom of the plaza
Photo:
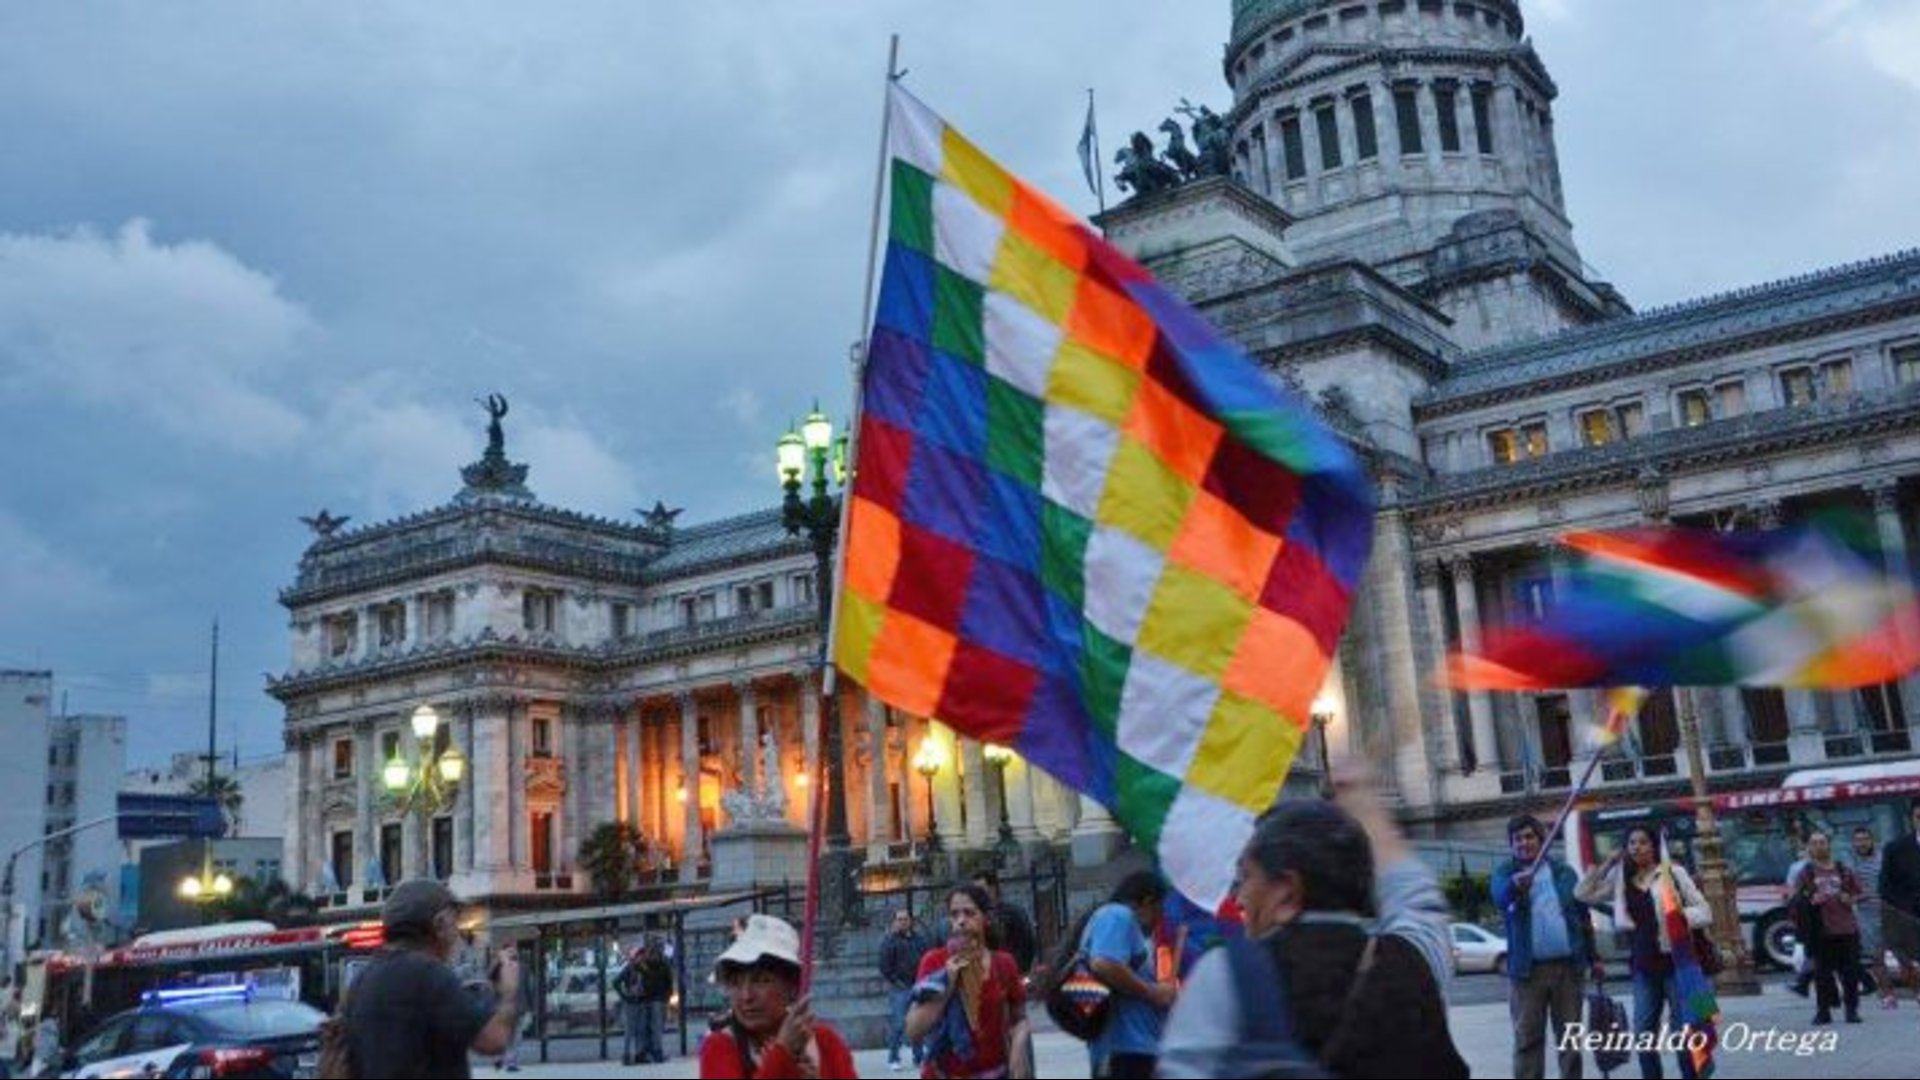
[[[1920,805],[1912,832],[1884,847],[1855,832],[1851,859],[1826,834],[1807,836],[1786,888],[1812,957],[1814,1024],[1832,1022],[1836,1007],[1859,1022],[1864,992],[1893,1009],[1905,984],[1920,1001],[1916,834]],[[1713,917],[1663,838],[1634,826],[1584,876],[1544,855],[1548,828],[1532,817],[1515,817],[1507,840],[1511,859],[1496,867],[1492,894],[1509,944],[1513,1074],[1544,1076],[1549,1026],[1578,1022],[1588,988],[1603,984],[1590,911],[1611,915],[1624,936],[1632,1030],[1684,1024],[1676,980],[1684,963],[1713,951]],[[889,1068],[1033,1076],[1033,1011],[1052,1011],[1083,976],[1098,986],[1102,1017],[1087,1038],[1092,1076],[1467,1076],[1448,1028],[1448,905],[1363,774],[1336,771],[1329,799],[1277,805],[1235,869],[1225,924],[1202,928],[1177,913],[1164,878],[1139,871],[1048,957],[1033,919],[1000,896],[993,874],[945,894],[939,940],[912,911],[895,911],[879,947]],[[1678,903],[1678,922],[1663,894]],[[328,1061],[351,1061],[359,1076],[468,1076],[468,1053],[511,1053],[524,1011],[515,949],[493,955],[482,999],[451,972],[461,932],[444,886],[403,882],[384,922],[388,947],[342,1001]],[[701,1076],[856,1076],[847,1040],[803,994],[793,924],[772,915],[737,922],[710,978],[726,1011],[701,1040]],[[659,942],[630,951],[614,992],[624,1061],[664,1061],[674,970]],[[1582,1076],[1578,1049],[1563,1045],[1557,1057],[1561,1076]],[[1692,1074],[1686,1055],[1678,1065]],[[1661,1055],[1642,1053],[1640,1070],[1661,1076]]]

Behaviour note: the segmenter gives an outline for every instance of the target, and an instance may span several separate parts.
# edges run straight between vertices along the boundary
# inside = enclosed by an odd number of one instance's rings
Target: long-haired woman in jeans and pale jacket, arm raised
[[[1680,911],[1688,928],[1709,926],[1713,909],[1707,897],[1693,886],[1686,867],[1672,863],[1674,890],[1680,894]],[[1611,859],[1588,871],[1574,890],[1574,897],[1588,907],[1613,911],[1613,926],[1626,930],[1632,949],[1626,969],[1634,974],[1634,1032],[1661,1034],[1663,1020],[1678,1022],[1680,994],[1674,986],[1674,944],[1661,919],[1661,842],[1645,824],[1626,830],[1620,849]],[[1693,1076],[1693,1063],[1688,1051],[1678,1051],[1680,1076]],[[1657,1049],[1640,1053],[1640,1076],[1659,1080],[1661,1055]]]

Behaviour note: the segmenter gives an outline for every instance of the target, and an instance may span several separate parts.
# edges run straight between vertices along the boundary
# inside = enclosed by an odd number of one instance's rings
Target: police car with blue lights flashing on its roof
[[[60,1065],[61,1076],[313,1076],[326,1015],[246,988],[154,992],[102,1022]]]

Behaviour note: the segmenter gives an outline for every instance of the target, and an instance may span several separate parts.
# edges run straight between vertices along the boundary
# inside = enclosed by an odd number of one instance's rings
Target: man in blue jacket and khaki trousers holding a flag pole
[[[1507,1001],[1513,1013],[1513,1076],[1540,1080],[1546,1076],[1548,1015],[1553,1017],[1555,1040],[1567,1024],[1580,1022],[1584,976],[1601,980],[1599,959],[1594,953],[1594,922],[1586,907],[1572,897],[1580,884],[1572,867],[1540,859],[1546,828],[1532,815],[1507,822],[1507,847],[1513,857],[1494,867],[1494,907],[1507,922]],[[1538,869],[1534,863],[1538,861]],[[1534,880],[1534,878],[1542,880]],[[1565,1080],[1580,1080],[1580,1049],[1559,1047],[1559,1067]]]

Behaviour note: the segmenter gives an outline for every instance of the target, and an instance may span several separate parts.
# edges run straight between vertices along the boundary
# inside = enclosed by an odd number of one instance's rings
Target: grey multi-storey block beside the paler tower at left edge
[[[127,769],[127,717],[96,713],[54,717],[46,746],[46,830],[75,828],[48,840],[42,892],[46,940],[92,940],[98,926],[73,922],[73,901],[86,894],[83,922],[111,924],[119,907],[125,847],[113,815]]]

